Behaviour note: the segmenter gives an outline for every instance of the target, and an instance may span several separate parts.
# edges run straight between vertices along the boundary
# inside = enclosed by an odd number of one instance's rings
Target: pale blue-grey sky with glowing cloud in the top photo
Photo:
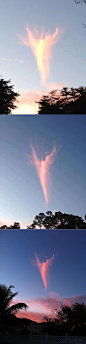
[[[0,73],[20,93],[14,114],[36,114],[43,94],[86,86],[86,5],[74,0],[0,3]]]

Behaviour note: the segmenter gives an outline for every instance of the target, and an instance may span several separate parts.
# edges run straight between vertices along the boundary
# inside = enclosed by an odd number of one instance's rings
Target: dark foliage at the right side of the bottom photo
[[[84,303],[75,303],[71,307],[61,306],[57,311],[56,319],[44,317],[42,323],[42,334],[54,334],[65,336],[66,333],[71,336],[86,336],[86,305]]]

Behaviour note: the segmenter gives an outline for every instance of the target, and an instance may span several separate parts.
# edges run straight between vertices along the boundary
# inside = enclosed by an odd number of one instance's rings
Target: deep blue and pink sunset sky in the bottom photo
[[[0,246],[0,283],[29,307],[17,316],[41,322],[61,305],[86,304],[85,230],[1,230]]]

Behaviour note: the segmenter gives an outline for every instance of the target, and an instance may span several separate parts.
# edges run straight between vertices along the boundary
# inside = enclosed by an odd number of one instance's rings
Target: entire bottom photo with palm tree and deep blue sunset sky
[[[0,343],[86,343],[86,231],[0,231]]]

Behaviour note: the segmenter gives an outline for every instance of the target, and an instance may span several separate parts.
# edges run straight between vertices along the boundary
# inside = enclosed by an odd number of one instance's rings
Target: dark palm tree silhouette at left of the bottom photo
[[[7,288],[4,284],[0,284],[0,318],[10,314],[16,314],[18,310],[22,308],[26,310],[28,307],[26,303],[16,303],[10,306],[13,297],[18,294],[18,292],[13,294],[11,288],[14,288],[14,286],[10,285],[10,287]]]

